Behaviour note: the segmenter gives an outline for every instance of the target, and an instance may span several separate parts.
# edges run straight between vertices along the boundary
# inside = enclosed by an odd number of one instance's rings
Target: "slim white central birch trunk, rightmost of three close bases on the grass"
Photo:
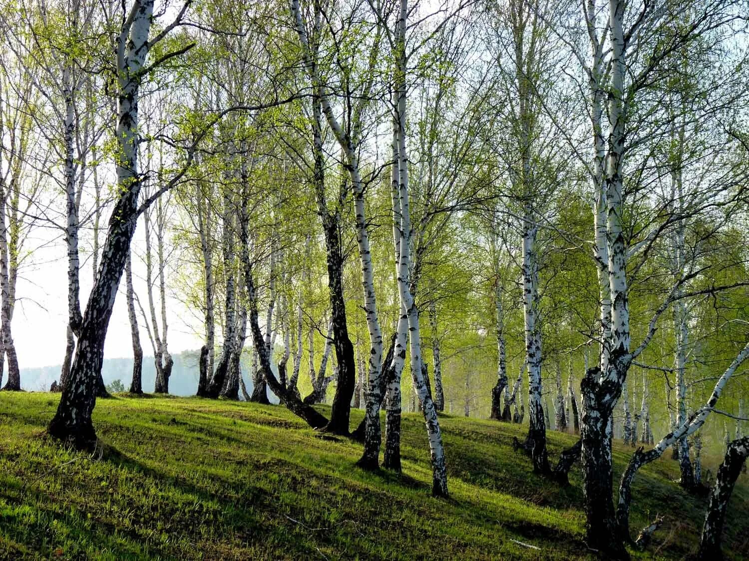
[[[423,404],[424,420],[429,438],[432,469],[432,494],[446,496],[447,465],[445,449],[442,444],[442,431],[437,418],[437,409],[428,393],[422,371],[421,335],[419,334],[419,309],[416,307],[409,286],[410,264],[410,214],[408,193],[408,153],[406,149],[406,26],[408,14],[408,0],[401,0],[401,13],[398,19],[397,40],[395,41],[395,93],[396,110],[398,115],[398,168],[400,176],[400,213],[401,213],[401,258],[398,270],[398,293],[401,300],[401,310],[408,314],[408,332],[410,346],[410,367],[413,387]]]

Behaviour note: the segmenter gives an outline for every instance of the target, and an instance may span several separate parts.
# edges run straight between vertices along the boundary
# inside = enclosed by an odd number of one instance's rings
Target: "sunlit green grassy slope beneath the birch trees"
[[[522,427],[442,417],[451,497],[437,500],[417,414],[404,415],[397,476],[355,468],[359,444],[316,435],[277,405],[186,398],[100,399],[94,423],[109,447],[91,459],[43,435],[57,399],[0,393],[0,557],[589,557],[579,471],[565,489],[534,476],[512,450]],[[550,441],[554,456],[572,438]],[[617,470],[627,458],[615,451]],[[697,544],[705,501],[682,493],[676,475],[663,460],[634,485],[633,527],[656,512],[667,519],[637,556],[681,558]],[[745,477],[724,537],[735,559],[749,556]]]

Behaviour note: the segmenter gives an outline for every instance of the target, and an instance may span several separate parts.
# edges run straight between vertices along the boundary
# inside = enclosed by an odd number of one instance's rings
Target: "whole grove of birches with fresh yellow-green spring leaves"
[[[488,419],[549,493],[580,486],[602,557],[667,539],[630,528],[662,462],[720,555],[747,456],[745,4],[11,4],[0,383],[7,361],[4,390],[40,389],[26,317],[61,317],[52,438],[99,445],[117,322],[131,396],[288,408],[366,477],[428,461],[435,497],[492,477],[451,464],[454,417]]]

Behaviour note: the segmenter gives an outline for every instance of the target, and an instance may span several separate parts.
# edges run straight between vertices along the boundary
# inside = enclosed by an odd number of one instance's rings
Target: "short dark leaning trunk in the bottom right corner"
[[[700,550],[697,552],[698,560],[723,559],[721,534],[726,520],[726,511],[733,493],[733,486],[736,485],[736,479],[739,479],[747,456],[749,456],[749,437],[733,441],[728,445],[726,457],[721,467],[718,468],[715,487],[710,494],[710,503],[707,507],[705,524],[700,539]]]

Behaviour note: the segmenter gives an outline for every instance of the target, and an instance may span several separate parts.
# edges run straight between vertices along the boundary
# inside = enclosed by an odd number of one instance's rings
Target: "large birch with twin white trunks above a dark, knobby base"
[[[672,52],[730,19],[722,8],[714,8],[692,14],[690,8],[682,4],[671,10],[655,10],[643,4],[636,12],[625,2],[613,0],[602,15],[595,1],[583,6],[583,25],[592,57],[586,60],[579,51],[575,51],[575,55],[589,85],[593,156],[588,169],[595,201],[594,259],[600,281],[599,337],[602,342],[598,367],[587,370],[580,386],[583,496],[588,544],[613,557],[627,555],[616,533],[610,501],[613,408],[622,394],[632,361],[649,345],[658,317],[680,298],[677,292],[688,281],[685,275],[676,281],[655,310],[642,343],[631,349],[628,281],[637,267],[628,271],[628,259],[637,254],[646,256],[646,248],[652,246],[664,229],[673,225],[677,216],[671,215],[646,232],[639,242],[628,244],[624,218],[625,162],[628,150],[637,146],[630,138],[635,101],[644,88],[658,80],[661,64]],[[646,37],[664,33],[675,18],[683,17],[690,19],[689,24],[676,32],[665,33],[670,35],[667,43],[658,43],[648,55],[634,48]],[[711,197],[712,194],[697,198],[691,203],[691,212],[696,212],[700,205],[712,204]]]

